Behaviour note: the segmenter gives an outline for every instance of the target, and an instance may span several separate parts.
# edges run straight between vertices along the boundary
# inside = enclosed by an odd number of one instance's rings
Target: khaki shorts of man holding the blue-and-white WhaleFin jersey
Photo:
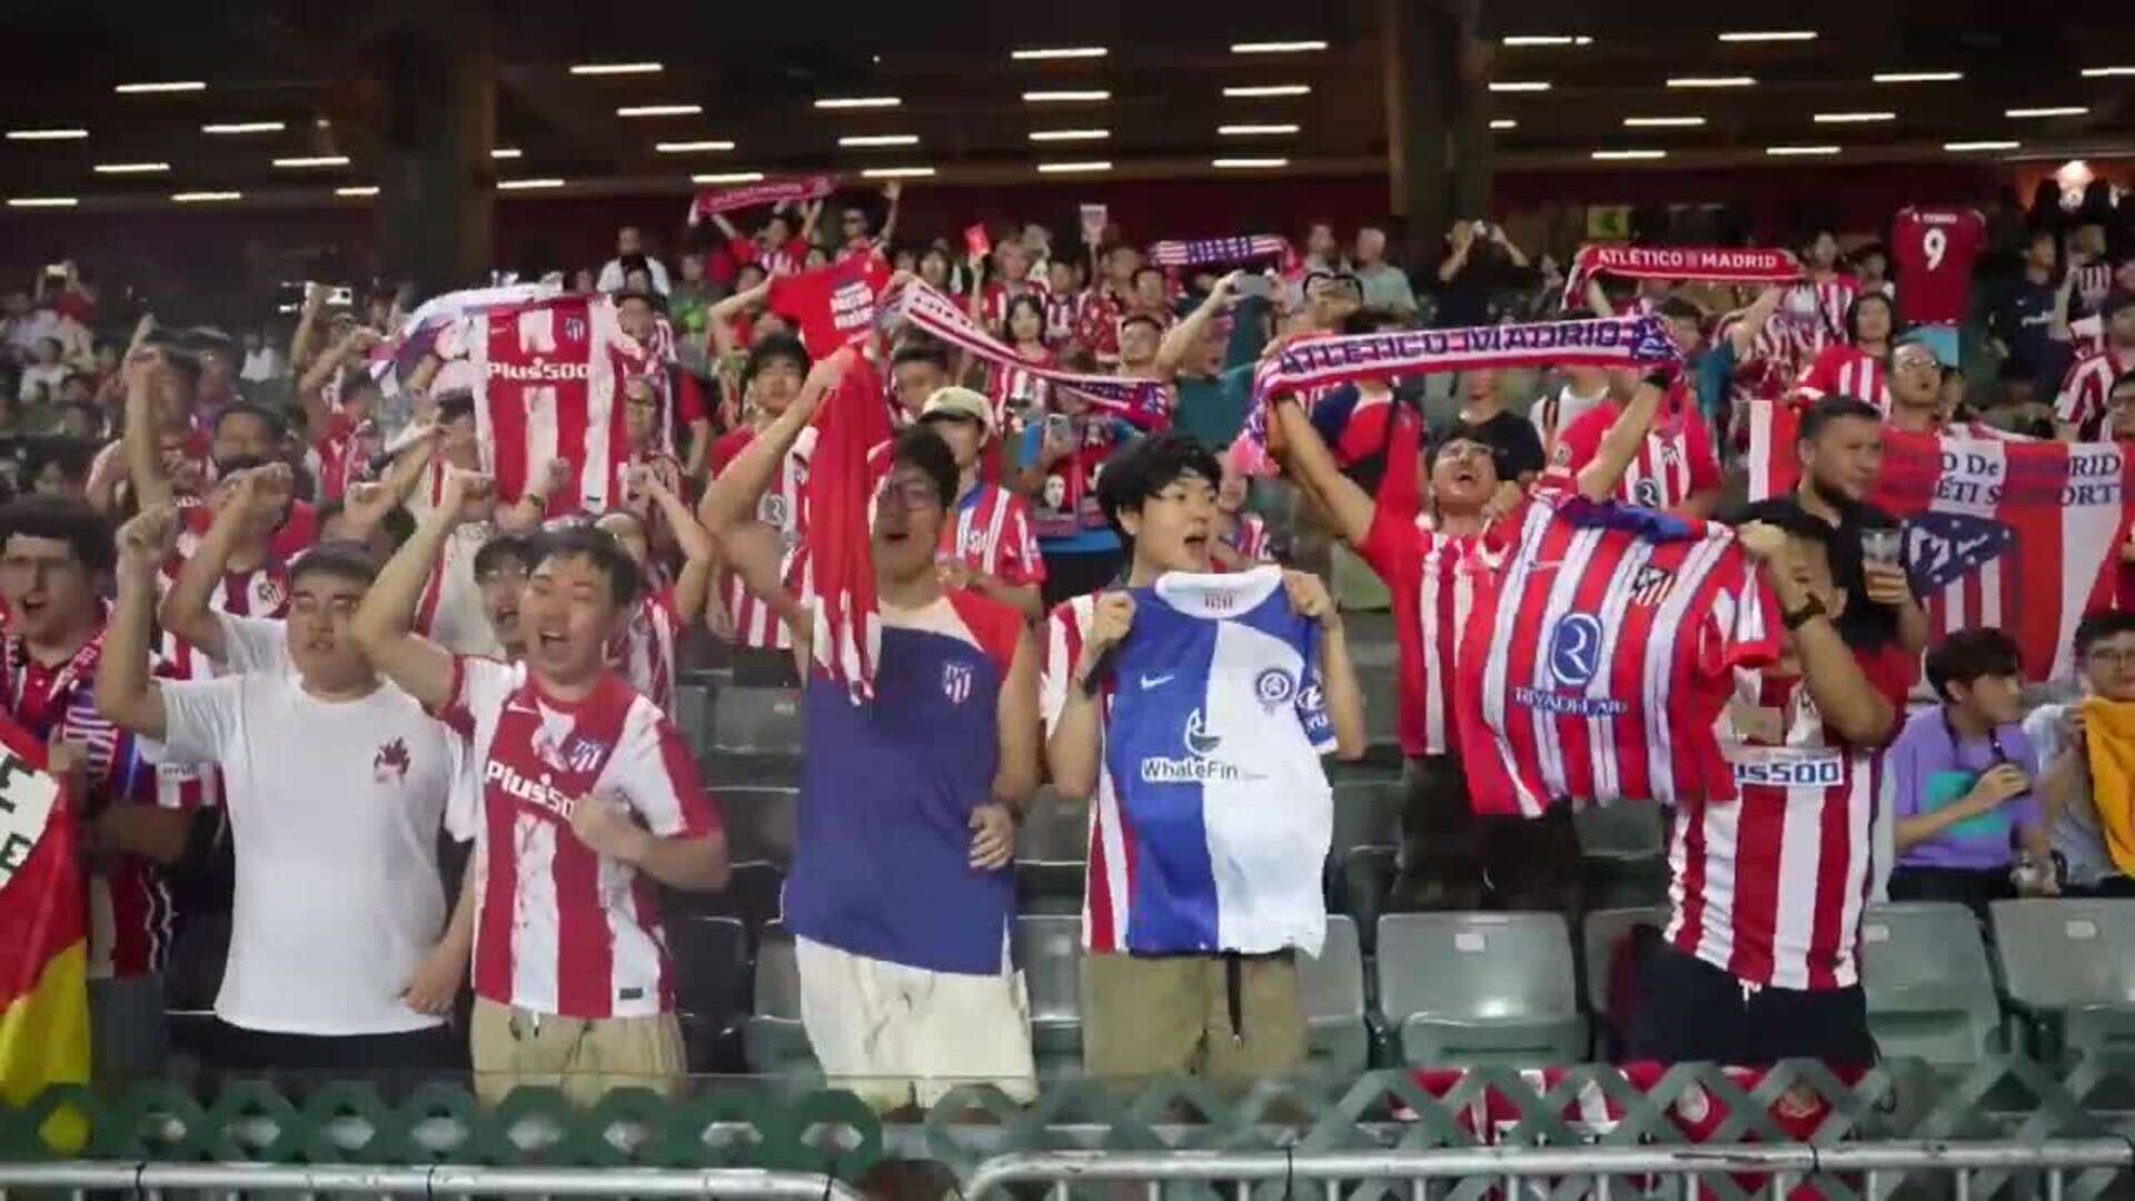
[[[1243,1036],[1230,1021],[1232,964]],[[1082,957],[1082,1069],[1097,1079],[1249,1081],[1302,1064],[1304,994],[1292,955]]]

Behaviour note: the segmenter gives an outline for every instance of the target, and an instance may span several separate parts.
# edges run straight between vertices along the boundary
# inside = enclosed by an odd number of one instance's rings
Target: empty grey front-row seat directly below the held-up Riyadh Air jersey
[[[1390,913],[1377,964],[1403,1062],[1535,1066],[1586,1054],[1561,915]]]

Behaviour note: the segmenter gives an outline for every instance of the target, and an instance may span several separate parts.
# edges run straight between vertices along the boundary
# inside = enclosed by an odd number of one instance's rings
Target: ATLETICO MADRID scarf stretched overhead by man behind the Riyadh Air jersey
[[[1676,344],[1657,316],[1475,325],[1469,329],[1403,329],[1292,342],[1253,374],[1253,410],[1232,442],[1232,464],[1247,474],[1275,474],[1268,457],[1268,400],[1362,378],[1403,378],[1486,368],[1633,368],[1674,359]]]

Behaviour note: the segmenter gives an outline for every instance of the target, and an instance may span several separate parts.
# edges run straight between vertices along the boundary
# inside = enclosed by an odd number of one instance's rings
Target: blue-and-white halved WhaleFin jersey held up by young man
[[[1125,855],[1125,872],[1106,872],[1125,949],[1317,955],[1334,823],[1317,624],[1272,566],[1166,575],[1134,605],[1100,797]]]

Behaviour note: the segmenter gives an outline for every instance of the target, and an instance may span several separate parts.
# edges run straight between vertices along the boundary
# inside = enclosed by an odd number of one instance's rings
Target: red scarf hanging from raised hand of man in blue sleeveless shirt
[[[807,474],[807,581],[816,596],[811,654],[854,701],[875,699],[882,656],[882,611],[875,603],[871,502],[886,468],[877,451],[890,440],[882,376],[854,359],[816,419],[816,451]]]

